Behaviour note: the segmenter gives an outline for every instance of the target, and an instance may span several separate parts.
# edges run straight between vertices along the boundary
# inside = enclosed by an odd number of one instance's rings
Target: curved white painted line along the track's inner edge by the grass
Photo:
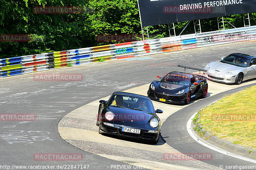
[[[228,156],[231,156],[231,157],[234,157],[234,158],[237,158],[237,159],[242,159],[242,160],[245,160],[245,161],[248,161],[248,162],[252,162],[252,163],[256,163],[256,160],[253,160],[253,159],[250,159],[250,158],[246,158],[246,157],[243,157],[243,156],[240,156],[240,155],[237,155],[237,154],[234,154],[234,153],[231,153],[231,152],[228,152],[228,151],[225,151],[217,146],[214,146],[212,144],[209,144],[208,142],[202,140],[201,138],[198,138],[195,136],[195,134],[193,133],[193,130],[191,129],[191,122],[195,115],[197,114],[197,112],[192,115],[190,117],[190,119],[188,120],[187,122],[187,131],[189,133],[189,135],[196,141],[198,142],[199,144],[202,144],[206,147],[208,147],[209,149],[212,149],[213,151],[216,151],[216,152],[220,152],[222,154],[225,154],[225,155],[228,155]]]

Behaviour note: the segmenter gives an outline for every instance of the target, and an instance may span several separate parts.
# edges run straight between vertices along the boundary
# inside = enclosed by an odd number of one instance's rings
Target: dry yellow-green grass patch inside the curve
[[[200,123],[214,136],[256,149],[256,86],[200,110]]]

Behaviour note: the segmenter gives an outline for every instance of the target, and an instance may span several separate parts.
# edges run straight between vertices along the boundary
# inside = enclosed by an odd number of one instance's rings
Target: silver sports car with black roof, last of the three
[[[221,61],[207,64],[205,69],[208,71],[204,72],[204,76],[212,81],[239,85],[244,80],[256,78],[255,64],[255,55],[230,54]]]

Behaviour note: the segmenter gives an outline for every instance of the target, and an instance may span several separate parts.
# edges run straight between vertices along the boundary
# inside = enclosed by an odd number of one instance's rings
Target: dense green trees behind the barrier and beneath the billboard
[[[0,58],[118,43],[99,42],[99,34],[141,34],[137,0],[0,0],[0,34],[33,34],[44,41],[0,42]],[[37,14],[36,6],[81,6],[79,14]],[[225,17],[241,27],[241,15]],[[256,24],[255,13],[250,14]],[[241,23],[242,22],[242,23]],[[175,23],[176,35],[186,22]],[[217,19],[201,20],[202,31],[217,30]],[[225,28],[231,28],[229,24]],[[167,25],[149,26],[150,38],[168,37]],[[144,28],[146,31],[146,28]],[[182,34],[194,33],[193,21]],[[171,30],[173,35],[173,31]],[[147,37],[146,33],[144,35]]]

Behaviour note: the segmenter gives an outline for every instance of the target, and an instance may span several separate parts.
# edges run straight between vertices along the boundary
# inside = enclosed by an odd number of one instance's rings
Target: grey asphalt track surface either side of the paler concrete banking
[[[82,81],[35,81],[33,74],[1,78],[1,114],[30,113],[36,115],[36,120],[0,122],[0,165],[11,167],[13,165],[50,165],[55,167],[60,165],[89,165],[85,166],[88,169],[115,169],[114,165],[119,165],[118,167],[121,167],[121,165],[129,166],[130,162],[101,157],[67,143],[58,133],[58,122],[71,111],[94,100],[109,96],[114,91],[124,91],[151,83],[156,79],[157,75],[163,76],[165,73],[173,70],[182,71],[183,69],[178,68],[177,65],[204,68],[207,63],[220,60],[220,57],[230,53],[243,52],[255,54],[255,50],[255,41],[248,41],[39,72],[42,74],[79,73],[83,75]],[[193,72],[193,70],[186,71]],[[245,83],[248,82],[250,83],[251,81],[246,81]],[[235,89],[231,93],[241,89]],[[216,158],[216,155],[220,156],[220,153],[195,142],[189,136],[186,128],[177,129],[179,131],[170,130],[170,128],[178,125],[185,127],[187,123],[185,120],[188,120],[199,108],[222,98],[223,95],[224,93],[219,93],[208,99],[194,102],[167,118],[161,129],[161,135],[164,141],[166,141],[166,144],[182,153],[212,153],[215,156],[214,158]],[[94,126],[96,127],[96,125]],[[175,143],[172,140],[173,138],[182,137],[183,139],[184,137],[188,137],[189,141],[192,142]],[[154,145],[150,146],[154,147]],[[126,152],[125,148],[123,149],[123,151],[120,150],[120,153]],[[83,160],[34,160],[33,156],[38,153],[81,153],[83,154]],[[137,154],[140,154],[139,150]],[[120,156],[125,157],[122,154]],[[203,161],[193,165],[193,168],[205,169],[206,165],[209,165],[211,169],[219,169],[220,165],[255,165],[255,163],[227,155],[220,157],[222,159]],[[172,164],[190,166],[186,161],[172,162]],[[123,169],[126,166],[122,166]],[[131,169],[136,169],[136,166],[132,166]]]

